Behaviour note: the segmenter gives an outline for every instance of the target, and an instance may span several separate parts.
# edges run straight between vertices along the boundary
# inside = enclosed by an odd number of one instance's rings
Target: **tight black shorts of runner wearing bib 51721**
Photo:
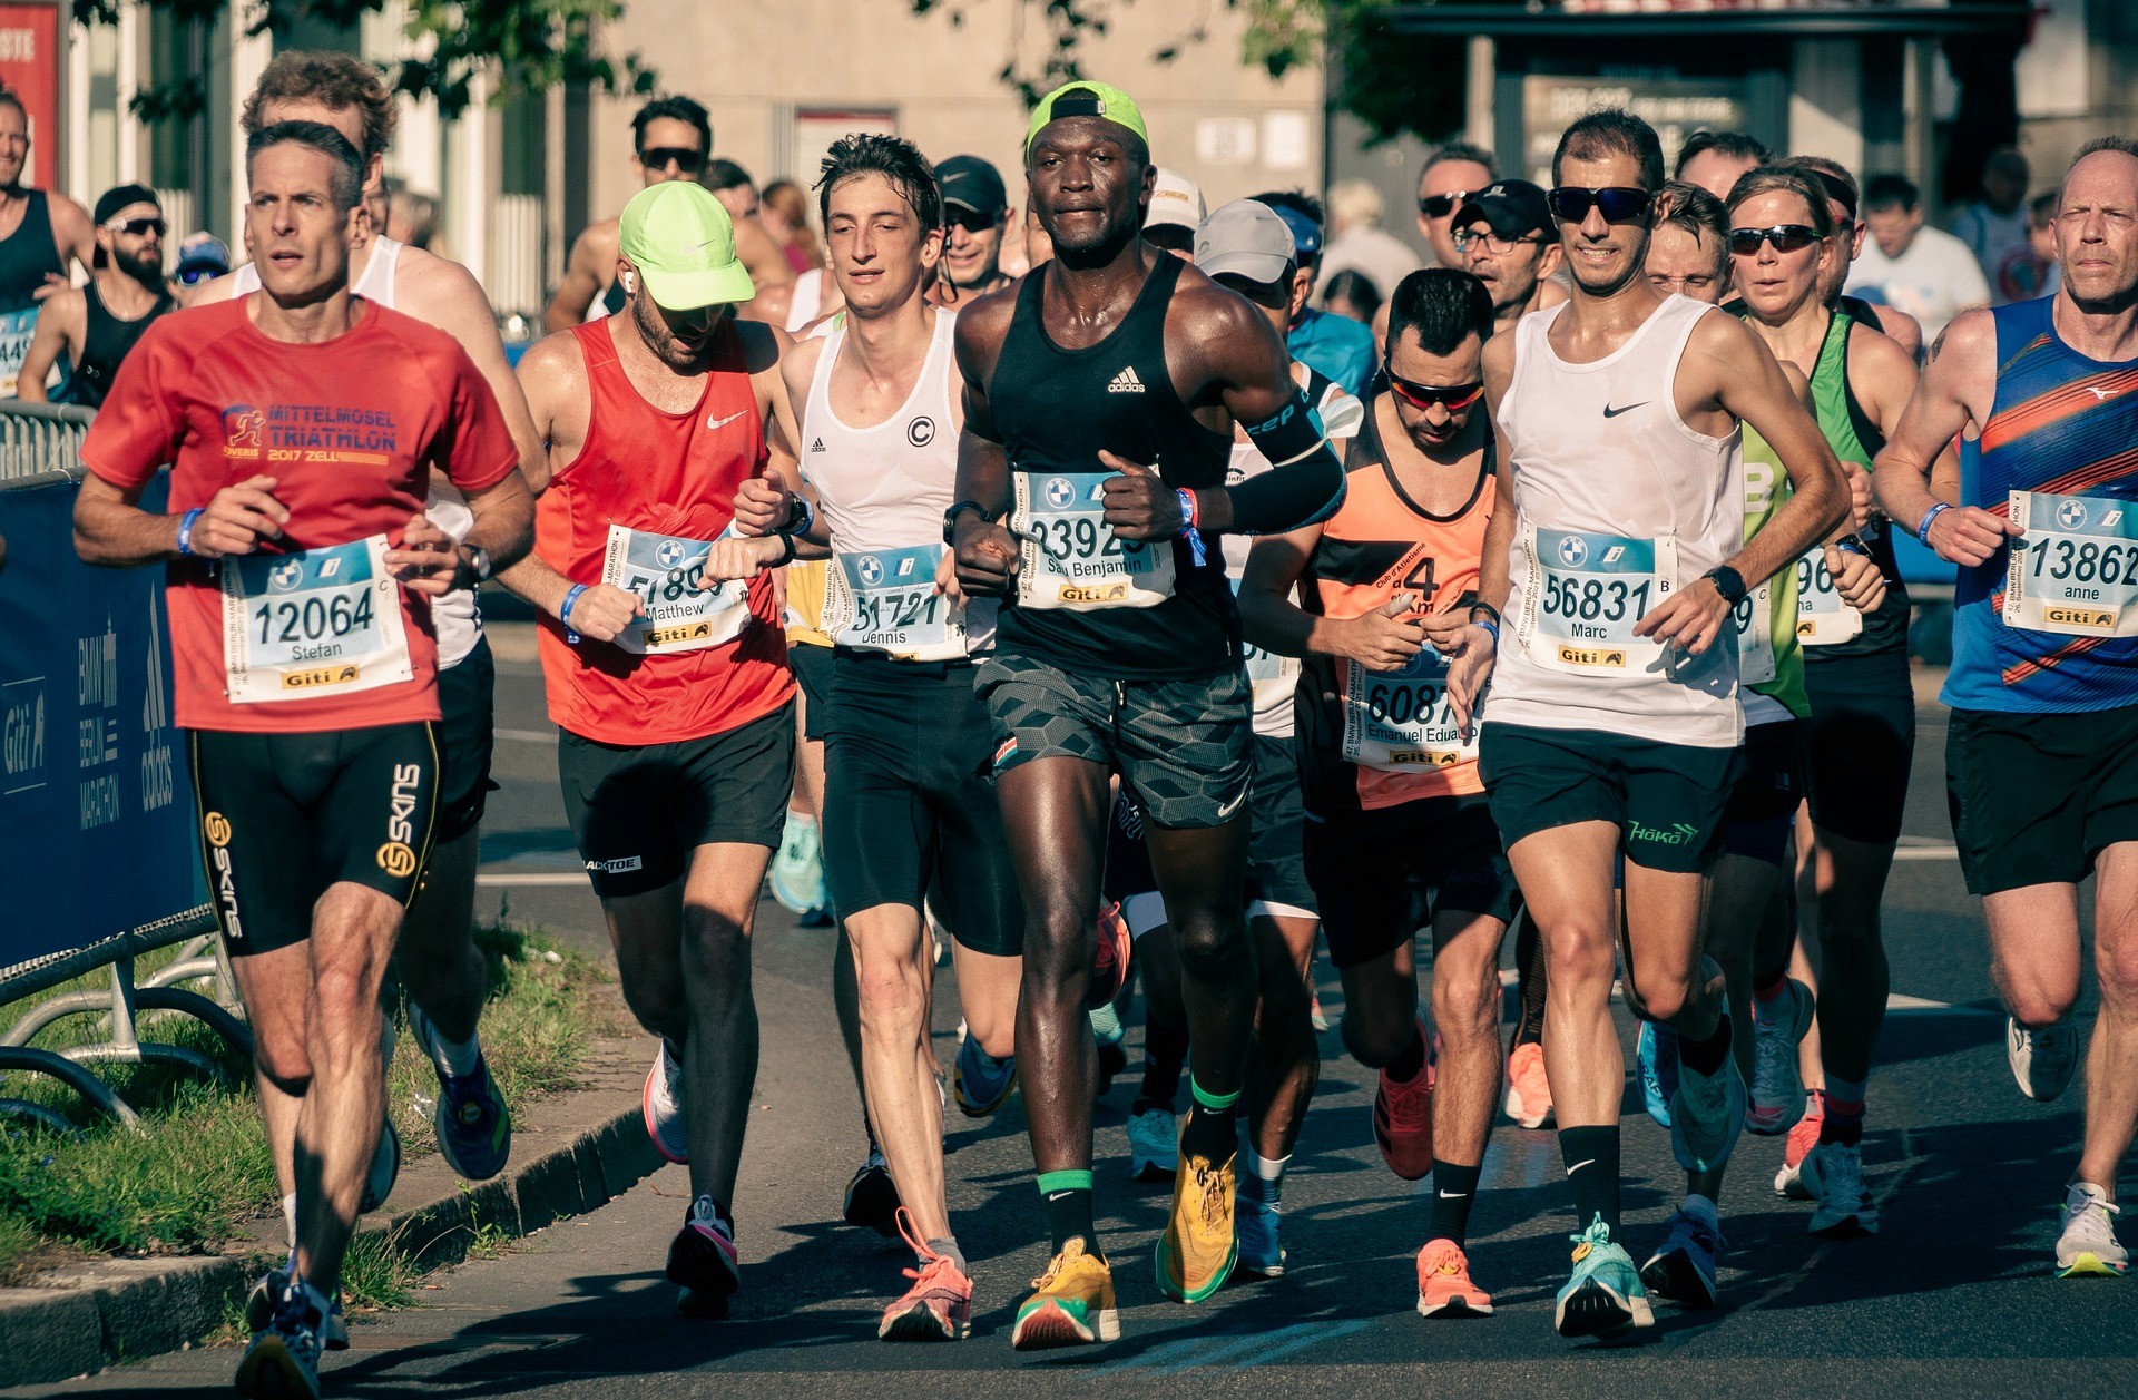
[[[1024,904],[971,663],[838,652],[825,707],[823,870],[840,919],[934,906],[975,953],[1024,951]]]

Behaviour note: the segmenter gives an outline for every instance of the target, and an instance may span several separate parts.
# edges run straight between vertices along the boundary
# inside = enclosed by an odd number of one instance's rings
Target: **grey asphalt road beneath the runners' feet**
[[[601,947],[599,911],[573,874],[554,787],[554,733],[530,660],[502,658],[498,778],[483,836],[483,906]],[[1894,1013],[1871,1084],[1864,1158],[1884,1199],[1877,1238],[1822,1242],[1809,1205],[1770,1193],[1779,1139],[1747,1137],[1723,1193],[1730,1240],[1721,1308],[1659,1306],[1638,1344],[1569,1344],[1550,1302],[1565,1278],[1571,1210],[1548,1133],[1501,1124],[1486,1158],[1471,1265],[1499,1315],[1426,1323],[1411,1255],[1430,1178],[1407,1186],[1373,1148],[1373,1075],[1323,1037],[1323,1077],[1285,1184],[1285,1278],[1234,1287],[1197,1308],[1161,1302],[1150,1246],[1163,1186],[1127,1180],[1122,1116],[1133,1082],[1099,1107],[1101,1231],[1116,1265],[1122,1340],[1084,1353],[1009,1351],[1011,1310],[1045,1265],[1024,1114],[947,1124],[951,1212],[979,1285],[973,1338],[945,1347],[874,1340],[907,1263],[894,1242],[838,1223],[862,1156],[859,1107],[832,1022],[827,930],[797,930],[774,904],[759,921],[763,1067],[738,1223],[744,1291],[725,1323],[673,1315],[659,1270],[688,1186],[667,1169],[607,1208],[539,1231],[507,1255],[432,1280],[421,1306],[359,1323],[327,1368],[329,1394],[669,1396],[678,1383],[753,1394],[881,1396],[900,1387],[986,1394],[1137,1391],[1415,1396],[1546,1394],[2102,1394],[2138,1379],[2138,1282],[2048,1272],[2055,1203],[2076,1156],[2078,1096],[2020,1099],[2003,1064],[1982,921],[1950,857],[1941,793],[1943,714],[1922,707],[1907,851],[1886,900]],[[545,878],[549,876],[549,878]],[[1341,1013],[1323,962],[1321,996]],[[936,1007],[951,1054],[954,981]],[[2091,1015],[2091,1007],[2087,1009]],[[1631,1054],[1631,1022],[1623,1022]],[[1131,1056],[1140,1032],[1131,1032]],[[648,1043],[650,1049],[650,1043]],[[1653,1248],[1678,1176],[1668,1135],[1627,1096],[1627,1231]],[[237,1353],[173,1353],[79,1389],[222,1394]]]

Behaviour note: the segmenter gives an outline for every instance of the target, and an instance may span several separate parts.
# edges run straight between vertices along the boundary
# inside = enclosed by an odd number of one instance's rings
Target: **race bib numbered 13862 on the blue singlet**
[[[2012,492],[2003,620],[2070,637],[2138,637],[2138,519],[2108,496]]]

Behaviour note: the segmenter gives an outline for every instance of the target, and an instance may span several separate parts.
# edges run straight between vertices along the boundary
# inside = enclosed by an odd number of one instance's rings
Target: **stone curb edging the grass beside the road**
[[[438,1270],[460,1263],[477,1231],[517,1240],[605,1205],[663,1165],[639,1105],[629,1103],[498,1178],[472,1186],[455,1180],[445,1195],[374,1218],[357,1233],[383,1235],[417,1267]],[[233,1248],[242,1255],[94,1259],[30,1287],[0,1289],[0,1385],[66,1381],[207,1336],[244,1300],[254,1253],[280,1253],[278,1244],[252,1246],[239,1238]]]

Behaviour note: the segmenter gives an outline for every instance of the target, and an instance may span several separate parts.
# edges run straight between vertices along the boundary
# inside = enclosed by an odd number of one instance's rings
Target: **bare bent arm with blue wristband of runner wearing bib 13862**
[[[1982,430],[1995,395],[1997,321],[1986,310],[1961,312],[1931,346],[1931,363],[1873,468],[1879,504],[1899,528],[1922,539],[1924,515],[1941,504],[1931,489],[1939,455],[1967,427]],[[1952,564],[1982,564],[2018,532],[2010,515],[1954,504],[1937,511],[1924,543]]]

